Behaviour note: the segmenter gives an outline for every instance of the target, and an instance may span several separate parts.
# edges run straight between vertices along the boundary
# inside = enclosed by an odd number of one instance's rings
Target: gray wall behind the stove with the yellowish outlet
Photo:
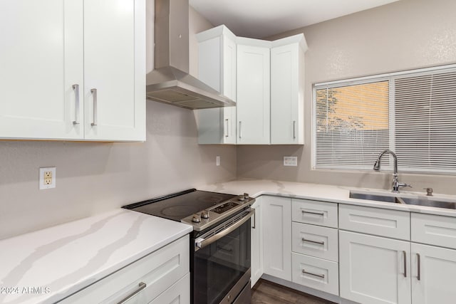
[[[190,21],[212,27],[193,10]],[[39,167],[57,168],[56,189],[38,190]],[[236,147],[197,145],[191,110],[148,101],[146,142],[0,141],[0,239],[235,178]]]

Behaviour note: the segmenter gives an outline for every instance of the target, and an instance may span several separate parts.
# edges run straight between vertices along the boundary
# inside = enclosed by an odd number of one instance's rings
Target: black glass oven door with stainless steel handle
[[[250,290],[250,217],[253,213],[252,209],[246,209],[224,224],[195,236],[194,304],[233,303],[246,286]]]

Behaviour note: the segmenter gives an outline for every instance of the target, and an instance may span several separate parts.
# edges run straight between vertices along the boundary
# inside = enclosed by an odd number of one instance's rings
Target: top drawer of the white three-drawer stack
[[[291,199],[292,219],[306,224],[337,228],[337,204],[309,199]]]

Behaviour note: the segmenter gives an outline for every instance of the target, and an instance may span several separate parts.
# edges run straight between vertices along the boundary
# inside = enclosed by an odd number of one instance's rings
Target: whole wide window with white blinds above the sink
[[[314,168],[456,173],[456,66],[314,85]],[[389,165],[388,157],[382,159]]]

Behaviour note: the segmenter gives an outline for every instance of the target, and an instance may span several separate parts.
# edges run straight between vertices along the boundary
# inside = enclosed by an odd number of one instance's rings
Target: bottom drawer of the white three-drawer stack
[[[339,294],[338,263],[292,253],[291,264],[294,283]]]

